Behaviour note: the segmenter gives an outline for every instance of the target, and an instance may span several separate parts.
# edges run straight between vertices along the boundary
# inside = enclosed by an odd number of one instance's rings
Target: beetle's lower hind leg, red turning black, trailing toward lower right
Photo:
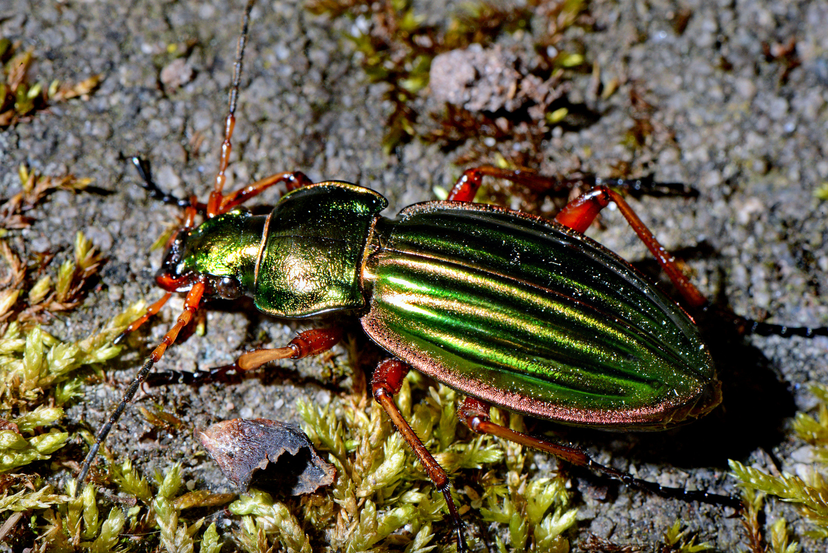
[[[723,505],[726,507],[733,507],[734,509],[741,508],[741,501],[737,497],[723,496],[716,493],[701,492],[697,490],[685,490],[681,488],[668,488],[654,482],[647,482],[640,478],[635,478],[628,473],[622,473],[614,468],[605,467],[602,464],[595,463],[589,455],[582,449],[573,448],[567,445],[556,444],[548,439],[535,438],[522,432],[517,432],[513,429],[508,429],[500,424],[495,424],[489,419],[489,409],[491,405],[484,401],[478,400],[474,397],[467,397],[460,406],[460,419],[478,434],[491,434],[498,438],[508,439],[516,444],[525,445],[527,447],[538,449],[547,454],[554,455],[569,463],[575,464],[579,467],[586,467],[602,473],[609,478],[614,478],[631,486],[633,488],[642,489],[646,492],[654,493],[661,497],[672,497],[681,499],[683,501],[691,502],[698,501],[709,503],[710,505]]]

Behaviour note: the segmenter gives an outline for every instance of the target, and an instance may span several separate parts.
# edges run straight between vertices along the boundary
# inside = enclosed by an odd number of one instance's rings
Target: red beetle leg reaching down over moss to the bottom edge
[[[469,546],[466,544],[463,533],[463,521],[460,520],[460,513],[457,512],[455,501],[451,497],[449,475],[445,473],[445,469],[440,467],[440,463],[437,463],[436,458],[426,449],[422,440],[416,435],[405,417],[402,416],[397,404],[394,403],[394,395],[399,393],[402,387],[402,381],[410,369],[410,366],[396,359],[380,361],[377,368],[374,369],[373,377],[371,378],[373,398],[377,400],[379,405],[383,406],[385,412],[388,413],[388,417],[394,423],[394,426],[397,427],[397,432],[402,435],[402,439],[406,440],[408,446],[416,455],[416,458],[420,460],[423,468],[426,469],[426,473],[431,478],[431,482],[443,493],[445,505],[449,507],[451,523],[455,526],[455,531],[457,532],[457,551],[469,551]]]

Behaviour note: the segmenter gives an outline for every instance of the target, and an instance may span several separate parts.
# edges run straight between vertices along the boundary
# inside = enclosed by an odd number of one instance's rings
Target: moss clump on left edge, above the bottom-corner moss
[[[41,177],[25,166],[18,170],[21,192],[0,206],[2,233],[31,225],[31,210],[57,189],[82,190],[90,179],[72,175]],[[63,447],[69,434],[43,427],[59,424],[61,406],[78,395],[80,367],[112,359],[120,347],[113,337],[137,317],[142,305],[113,318],[100,332],[77,342],[62,342],[41,327],[48,313],[77,307],[102,256],[82,232],[75,236],[74,255],[50,271],[48,260],[30,266],[25,250],[12,250],[0,239],[5,262],[0,282],[0,473],[50,458]],[[32,274],[40,275],[36,279]]]

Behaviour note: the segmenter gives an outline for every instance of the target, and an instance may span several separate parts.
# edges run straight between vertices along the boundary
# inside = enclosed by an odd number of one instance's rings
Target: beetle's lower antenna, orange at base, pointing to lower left
[[[181,328],[185,327],[187,323],[190,323],[192,320],[193,315],[195,314],[195,309],[199,307],[201,296],[204,291],[204,281],[199,281],[193,284],[193,288],[190,289],[190,292],[187,293],[187,297],[184,300],[184,311],[178,316],[176,324],[164,335],[163,338],[161,338],[161,343],[158,344],[154,350],[152,350],[150,357],[147,358],[147,361],[144,361],[144,364],[141,366],[141,370],[139,370],[135,378],[132,379],[132,384],[130,384],[127,391],[124,392],[121,402],[115,410],[113,410],[112,415],[109,415],[109,419],[101,425],[98,433],[95,434],[95,443],[92,444],[91,448],[89,448],[89,454],[87,454],[86,458],[84,458],[84,464],[80,468],[78,478],[75,480],[78,483],[78,488],[86,479],[86,475],[89,473],[89,467],[92,466],[92,462],[98,455],[99,449],[103,445],[103,442],[106,441],[109,431],[112,429],[113,425],[118,422],[118,419],[121,418],[123,410],[127,408],[128,403],[132,401],[133,397],[135,397],[135,393],[141,386],[142,382],[146,380],[152,366],[161,359],[161,356],[164,355],[166,348],[176,341],[176,337],[178,337],[178,332],[181,331]]]

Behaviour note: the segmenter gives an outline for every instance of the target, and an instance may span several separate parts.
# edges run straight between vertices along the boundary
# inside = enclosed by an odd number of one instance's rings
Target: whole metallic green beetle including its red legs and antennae
[[[580,449],[489,420],[490,405],[497,405],[566,424],[666,429],[719,405],[720,382],[691,316],[626,261],[582,234],[614,201],[691,315],[703,313],[709,305],[705,297],[617,192],[686,191],[595,182],[555,221],[472,200],[484,176],[539,190],[566,189],[580,179],[560,181],[495,167],[467,170],[448,201],[409,206],[395,220],[378,216],[387,201],[377,192],[347,182],[314,184],[301,172],[278,173],[224,195],[251,6],[248,2],[219,173],[208,201],[180,200],[159,191],[148,166],[133,160],[151,195],[184,207],[186,216],[156,276],[167,293],[125,334],[156,313],[173,292],[187,293],[185,308],[99,429],[78,480],[84,480],[113,424],[201,299],[246,293],[263,313],[282,318],[354,313],[368,336],[395,357],[374,371],[373,395],[443,492],[460,551],[467,546],[449,479],[392,399],[410,367],[468,395],[460,418],[475,432],[512,439],[665,497],[738,507],[733,497],[633,478],[595,463]],[[238,207],[278,183],[285,183],[288,193],[269,215],[253,216]],[[199,213],[205,222],[196,226]],[[825,327],[782,327],[727,316],[743,333],[828,335]],[[249,371],[275,359],[314,355],[340,337],[337,328],[301,332],[286,347],[243,354],[233,368]],[[205,381],[217,373],[199,378]]]

